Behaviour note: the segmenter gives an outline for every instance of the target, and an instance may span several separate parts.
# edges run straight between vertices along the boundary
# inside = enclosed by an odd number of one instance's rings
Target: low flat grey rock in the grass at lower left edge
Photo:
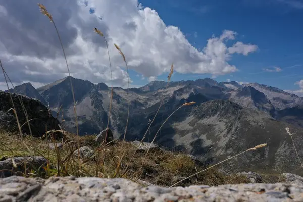
[[[15,166],[14,167],[14,163]],[[31,169],[40,169],[42,170],[42,166],[47,164],[47,160],[44,157],[35,156],[33,157],[14,157],[8,158],[6,160],[0,161],[0,178],[9,177],[16,174],[24,173],[24,162],[26,163],[27,171]]]

